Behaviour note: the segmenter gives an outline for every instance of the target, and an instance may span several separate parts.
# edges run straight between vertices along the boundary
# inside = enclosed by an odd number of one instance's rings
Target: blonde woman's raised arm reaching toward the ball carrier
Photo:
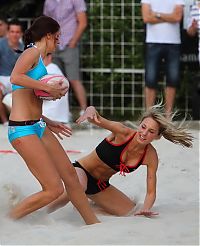
[[[101,128],[107,129],[113,133],[121,133],[121,134],[128,134],[130,130],[133,132],[132,129],[126,127],[120,122],[111,121],[104,117],[102,117],[94,106],[89,106],[86,108],[84,114],[80,116],[76,122],[80,124],[81,122],[88,120],[94,125],[97,125]]]

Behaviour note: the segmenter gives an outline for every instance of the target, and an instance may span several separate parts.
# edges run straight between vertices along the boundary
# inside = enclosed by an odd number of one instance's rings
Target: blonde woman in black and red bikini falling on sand
[[[143,207],[135,211],[135,215],[148,217],[157,215],[151,208],[156,199],[158,155],[151,142],[163,136],[175,144],[192,147],[193,139],[183,128],[176,127],[164,115],[160,105],[153,106],[143,114],[137,131],[122,123],[103,118],[93,106],[88,107],[77,120],[78,124],[89,120],[111,131],[111,134],[95,150],[73,164],[88,198],[106,212],[118,216],[133,212],[135,203],[111,185],[109,179],[118,172],[126,176],[126,173],[145,165],[147,167],[146,197]],[[68,194],[64,193],[49,206],[49,212],[64,206],[68,201]]]

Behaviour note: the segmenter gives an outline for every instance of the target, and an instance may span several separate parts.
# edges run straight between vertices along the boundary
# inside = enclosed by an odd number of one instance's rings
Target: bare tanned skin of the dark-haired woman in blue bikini
[[[37,48],[32,47],[25,50],[11,74],[11,82],[25,88],[13,92],[10,120],[27,121],[42,117],[47,127],[41,139],[37,135],[28,135],[17,138],[11,143],[41,185],[41,191],[22,200],[10,211],[9,216],[13,219],[22,218],[57,199],[65,189],[85,223],[94,224],[99,220],[89,206],[75,169],[53,134],[55,133],[62,139],[62,135],[71,136],[71,129],[42,116],[42,100],[34,94],[34,89],[44,90],[54,99],[59,99],[66,94],[67,88],[61,82],[48,85],[26,75],[37,65],[40,55],[45,57],[47,53],[55,50],[59,34],[59,32],[47,33],[40,41],[35,42]]]

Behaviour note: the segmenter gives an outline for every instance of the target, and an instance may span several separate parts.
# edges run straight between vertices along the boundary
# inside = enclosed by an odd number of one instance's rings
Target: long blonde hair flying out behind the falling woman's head
[[[191,135],[191,133],[187,132],[186,128],[182,127],[183,122],[181,122],[178,126],[172,122],[172,119],[175,115],[176,112],[173,113],[170,118],[166,118],[164,107],[162,103],[159,103],[143,113],[141,117],[141,122],[145,118],[152,118],[160,126],[159,135],[162,135],[165,139],[169,140],[172,143],[191,148],[194,137]]]

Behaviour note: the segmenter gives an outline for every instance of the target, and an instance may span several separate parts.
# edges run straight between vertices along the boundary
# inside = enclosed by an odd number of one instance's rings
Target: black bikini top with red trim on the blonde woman
[[[122,161],[122,156],[128,144],[134,138],[136,133],[133,134],[126,142],[122,144],[114,144],[109,142],[106,138],[96,147],[96,153],[98,157],[109,167],[111,167],[115,171],[120,171],[120,174],[125,176],[125,173],[135,171],[143,162],[147,146],[144,149],[141,158],[138,163],[134,166],[126,166]]]

